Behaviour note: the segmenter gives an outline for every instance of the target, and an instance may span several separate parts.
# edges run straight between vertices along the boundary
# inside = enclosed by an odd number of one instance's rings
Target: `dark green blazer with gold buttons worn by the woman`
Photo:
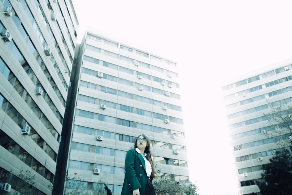
[[[121,195],[132,195],[134,189],[140,190],[140,195],[144,194],[147,173],[145,160],[135,149],[131,149],[126,154],[125,179]]]

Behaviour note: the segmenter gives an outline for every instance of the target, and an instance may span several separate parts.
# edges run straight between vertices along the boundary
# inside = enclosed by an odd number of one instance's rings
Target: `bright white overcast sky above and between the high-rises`
[[[81,36],[91,26],[177,62],[190,180],[201,195],[237,194],[221,87],[292,57],[292,1],[72,1]]]

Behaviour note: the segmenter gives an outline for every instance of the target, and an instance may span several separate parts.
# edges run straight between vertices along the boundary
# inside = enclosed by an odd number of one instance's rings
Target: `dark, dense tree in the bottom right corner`
[[[276,151],[269,164],[263,165],[264,183],[257,183],[262,195],[289,195],[292,192],[292,154]]]

